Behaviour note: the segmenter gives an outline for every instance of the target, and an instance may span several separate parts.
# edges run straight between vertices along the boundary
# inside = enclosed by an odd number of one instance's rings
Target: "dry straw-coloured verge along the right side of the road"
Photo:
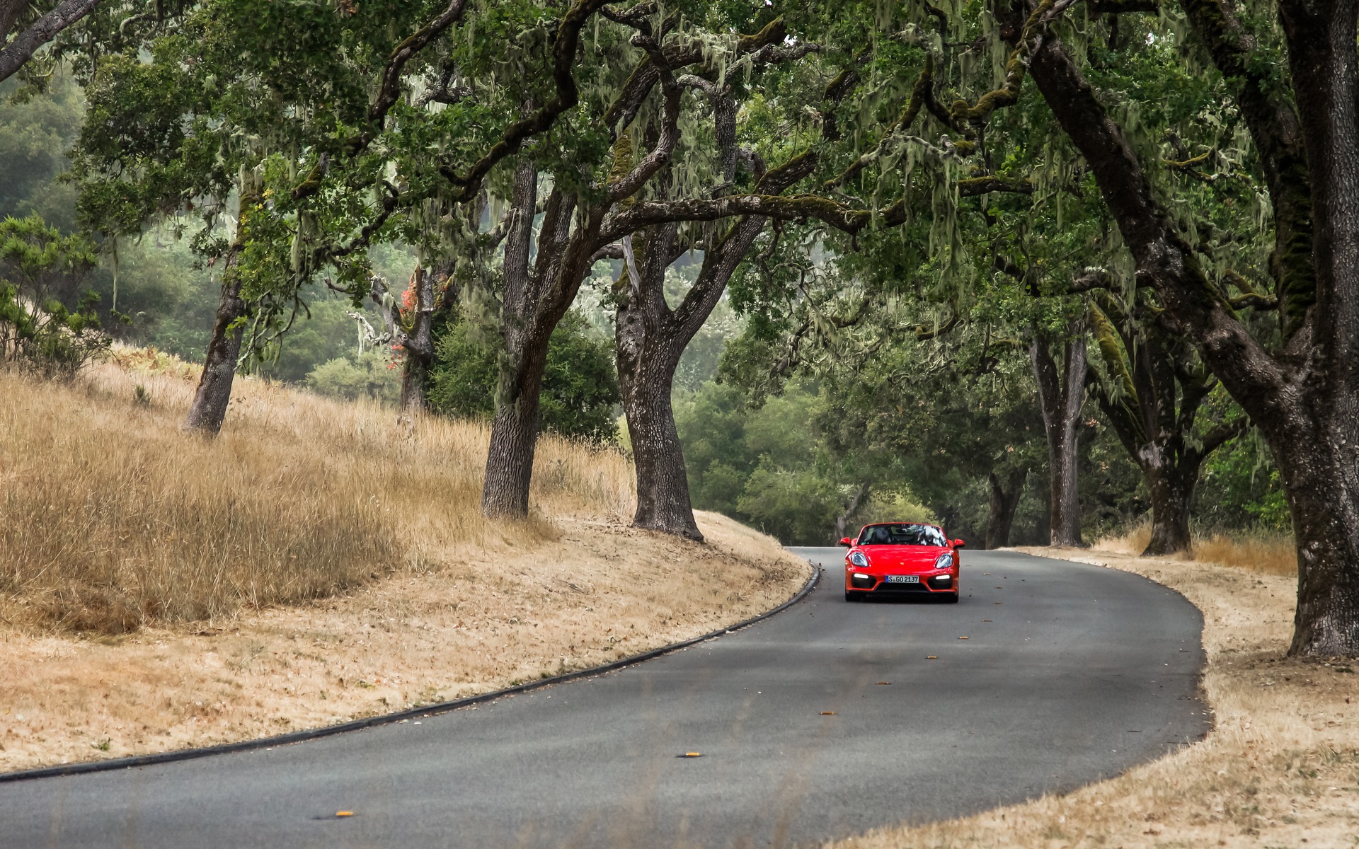
[[[1091,550],[1021,550],[1144,575],[1203,611],[1215,715],[1204,742],[1065,796],[836,846],[1359,845],[1359,675],[1349,662],[1284,656],[1296,598],[1290,542],[1218,537],[1199,543],[1196,561],[1135,556],[1144,545],[1133,534]]]

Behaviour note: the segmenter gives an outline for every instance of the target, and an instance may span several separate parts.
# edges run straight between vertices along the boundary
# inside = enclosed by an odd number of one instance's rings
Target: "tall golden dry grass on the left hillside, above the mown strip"
[[[77,384],[0,374],[0,615],[124,633],[356,587],[504,534],[478,511],[487,429],[239,380],[215,440],[182,433],[194,369],[120,352]],[[141,387],[149,402],[136,401]],[[620,518],[631,469],[544,439],[534,503]]]

